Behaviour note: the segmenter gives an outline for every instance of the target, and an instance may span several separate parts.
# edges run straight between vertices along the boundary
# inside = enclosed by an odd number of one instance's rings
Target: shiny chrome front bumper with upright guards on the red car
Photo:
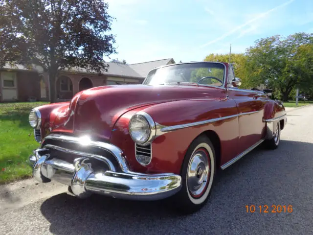
[[[71,143],[79,142],[79,139],[75,137],[55,134],[47,137],[47,139],[58,140],[60,138],[63,141],[67,141],[69,138]],[[42,183],[55,180],[66,184],[71,187],[73,194],[77,197],[86,198],[92,193],[98,193],[123,199],[158,200],[174,195],[181,188],[181,177],[176,174],[132,172],[125,164],[125,159],[122,160],[121,167],[116,169],[114,163],[105,156],[65,149],[51,144],[45,145],[45,140],[42,142],[42,147],[34,150],[29,157],[28,163],[33,167],[33,177]],[[90,144],[96,143],[90,142]],[[72,162],[69,162],[68,159],[58,158],[55,154],[52,155],[50,152],[52,149],[58,150],[60,153],[74,154],[75,158]],[[117,161],[121,157],[121,155],[117,156]],[[105,163],[107,169],[98,170],[98,167],[95,170],[92,164],[96,166],[98,163]]]

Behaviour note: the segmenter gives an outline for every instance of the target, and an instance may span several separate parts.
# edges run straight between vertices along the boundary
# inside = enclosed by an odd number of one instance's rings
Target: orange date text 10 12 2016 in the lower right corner
[[[246,205],[247,213],[291,213],[292,211],[291,205]]]

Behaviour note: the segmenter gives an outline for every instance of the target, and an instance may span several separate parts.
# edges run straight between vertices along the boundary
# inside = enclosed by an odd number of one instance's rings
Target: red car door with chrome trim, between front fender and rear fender
[[[229,80],[232,76],[234,77],[234,71],[230,67]],[[262,139],[265,130],[264,105],[268,97],[260,91],[229,86],[228,96],[236,102],[238,109],[239,149],[243,152]]]

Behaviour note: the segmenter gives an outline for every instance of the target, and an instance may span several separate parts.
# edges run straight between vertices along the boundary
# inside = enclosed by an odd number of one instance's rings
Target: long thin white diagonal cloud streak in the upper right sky
[[[234,33],[236,33],[236,32],[240,32],[240,31],[241,31],[243,28],[245,28],[246,26],[251,25],[252,23],[256,22],[257,20],[260,20],[260,19],[262,19],[262,18],[268,16],[268,14],[270,14],[270,13],[273,12],[273,11],[278,10],[279,8],[282,8],[282,7],[286,6],[286,5],[289,5],[289,4],[290,4],[291,2],[293,2],[293,1],[294,1],[294,0],[286,1],[286,2],[284,2],[283,4],[280,4],[280,5],[278,5],[278,6],[274,7],[274,8],[272,8],[272,9],[266,11],[266,12],[263,12],[263,13],[261,13],[261,14],[258,14],[256,17],[254,17],[254,18],[248,20],[246,23],[241,24],[241,25],[239,25],[239,26],[237,26],[237,27],[234,27],[232,30],[228,31],[227,33],[224,33],[222,36],[220,36],[220,37],[218,37],[218,38],[216,38],[216,39],[214,39],[214,40],[212,40],[212,41],[210,41],[210,42],[207,42],[207,43],[201,45],[200,48],[206,47],[206,46],[208,46],[208,45],[210,45],[210,44],[213,44],[213,43],[216,43],[216,42],[219,42],[220,40],[223,40],[224,38],[226,38],[226,37],[228,37],[228,36],[230,36],[230,35],[232,35],[232,34],[234,34]],[[242,31],[242,32],[243,32],[243,31]],[[241,33],[242,33],[242,32],[241,32]],[[247,33],[247,31],[246,31],[246,33]]]

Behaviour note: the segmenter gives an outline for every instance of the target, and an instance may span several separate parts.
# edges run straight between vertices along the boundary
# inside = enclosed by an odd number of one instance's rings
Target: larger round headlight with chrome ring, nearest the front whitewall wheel
[[[155,122],[148,114],[138,112],[130,120],[129,133],[138,144],[150,142],[156,135]]]

